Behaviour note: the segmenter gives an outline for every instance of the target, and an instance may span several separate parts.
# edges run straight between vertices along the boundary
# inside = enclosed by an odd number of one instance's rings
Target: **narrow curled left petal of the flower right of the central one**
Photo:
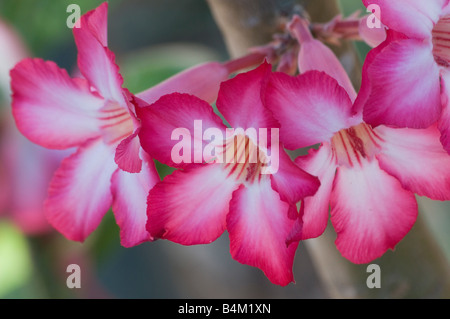
[[[318,176],[320,187],[312,197],[304,199],[301,217],[301,239],[315,238],[322,235],[328,223],[330,196],[336,173],[336,160],[330,144],[324,143],[319,150],[310,150],[307,156],[297,157],[296,164],[306,172]]]

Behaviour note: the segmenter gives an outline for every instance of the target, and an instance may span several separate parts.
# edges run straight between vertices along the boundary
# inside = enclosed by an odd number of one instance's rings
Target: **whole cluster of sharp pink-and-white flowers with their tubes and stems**
[[[366,18],[315,30],[374,47],[359,92],[294,16],[286,52],[254,48],[132,94],[108,49],[107,4],[83,15],[73,31],[80,77],[34,58],[11,72],[21,133],[75,149],[53,175],[48,221],[84,241],[112,208],[125,247],[208,244],[226,231],[235,260],[283,286],[294,280],[299,242],[320,236],[329,215],[350,261],[393,249],[415,223],[415,194],[450,199],[450,7],[363,2],[381,7],[387,31],[371,33]],[[250,71],[231,77],[242,69]],[[287,150],[303,148],[308,155],[292,160]],[[154,160],[174,172],[161,180]]]

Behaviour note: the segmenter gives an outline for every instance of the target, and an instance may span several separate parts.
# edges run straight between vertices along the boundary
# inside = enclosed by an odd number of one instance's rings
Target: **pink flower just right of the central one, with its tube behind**
[[[292,28],[307,43],[299,56],[303,74],[274,73],[265,90],[286,148],[320,144],[295,161],[321,185],[304,199],[290,241],[320,236],[331,206],[338,250],[354,263],[367,263],[409,232],[417,217],[414,193],[450,199],[450,156],[436,125],[410,129],[380,123],[374,128],[365,123],[338,60],[298,22]]]

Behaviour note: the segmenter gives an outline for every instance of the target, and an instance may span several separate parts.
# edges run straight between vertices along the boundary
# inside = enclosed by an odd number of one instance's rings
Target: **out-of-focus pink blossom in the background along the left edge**
[[[67,152],[47,150],[25,139],[17,130],[9,109],[9,72],[28,56],[19,34],[0,21],[0,213],[24,233],[48,232],[43,202],[53,172]]]

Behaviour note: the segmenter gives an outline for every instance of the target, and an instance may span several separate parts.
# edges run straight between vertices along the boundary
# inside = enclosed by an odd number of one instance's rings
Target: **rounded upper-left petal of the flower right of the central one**
[[[310,71],[297,77],[274,73],[265,90],[266,106],[280,122],[288,149],[328,141],[350,125],[352,103],[336,80]]]

